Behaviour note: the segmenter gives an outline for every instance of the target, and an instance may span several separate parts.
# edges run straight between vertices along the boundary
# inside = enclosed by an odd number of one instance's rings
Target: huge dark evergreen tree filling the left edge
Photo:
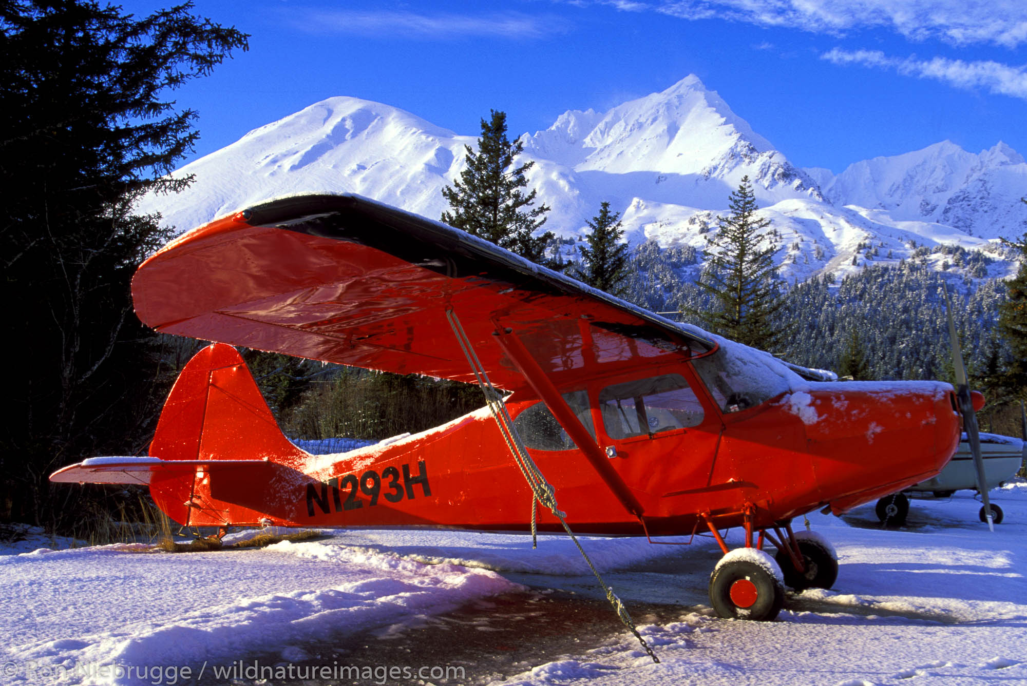
[[[132,314],[129,280],[168,232],[132,203],[188,183],[165,175],[196,139],[195,113],[167,91],[246,46],[191,9],[136,18],[92,0],[0,5],[0,288],[8,331],[23,337],[5,379],[0,519],[74,518],[69,489],[49,491],[51,471],[145,448],[157,339]]]

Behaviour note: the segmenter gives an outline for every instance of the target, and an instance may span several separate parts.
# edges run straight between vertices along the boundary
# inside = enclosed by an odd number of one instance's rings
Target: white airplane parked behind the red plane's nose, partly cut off
[[[1020,439],[997,433],[981,433],[981,457],[984,458],[985,488],[1002,486],[1020,470],[1027,459],[1027,443]],[[947,498],[956,491],[978,490],[977,471],[966,434],[962,434],[959,450],[938,475],[915,484],[901,493],[886,495],[877,501],[877,517],[888,526],[902,526],[909,512],[908,493],[930,493],[936,498]],[[995,524],[1002,521],[1002,509],[989,503]],[[987,511],[981,506],[981,521],[987,521]]]

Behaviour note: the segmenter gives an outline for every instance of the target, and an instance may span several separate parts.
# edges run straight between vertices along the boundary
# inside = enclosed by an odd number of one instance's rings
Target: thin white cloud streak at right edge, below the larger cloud
[[[1027,100],[1027,68],[997,62],[963,62],[934,58],[889,58],[880,50],[842,50],[835,48],[821,59],[836,65],[861,65],[888,69],[904,76],[942,81],[957,88],[987,88],[990,92]]]

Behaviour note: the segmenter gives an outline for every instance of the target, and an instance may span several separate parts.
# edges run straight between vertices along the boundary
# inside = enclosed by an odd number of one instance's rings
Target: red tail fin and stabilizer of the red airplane
[[[99,457],[52,482],[147,484],[154,503],[186,526],[288,524],[268,513],[282,481],[304,479],[309,455],[278,428],[250,370],[214,343],[175,381],[149,457]]]

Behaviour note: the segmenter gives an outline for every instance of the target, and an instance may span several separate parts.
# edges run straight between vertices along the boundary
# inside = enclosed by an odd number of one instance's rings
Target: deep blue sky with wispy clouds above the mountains
[[[134,0],[146,13],[169,3]],[[248,52],[180,89],[200,156],[333,96],[478,135],[606,110],[696,74],[799,166],[951,140],[1027,156],[1027,0],[197,0]]]

